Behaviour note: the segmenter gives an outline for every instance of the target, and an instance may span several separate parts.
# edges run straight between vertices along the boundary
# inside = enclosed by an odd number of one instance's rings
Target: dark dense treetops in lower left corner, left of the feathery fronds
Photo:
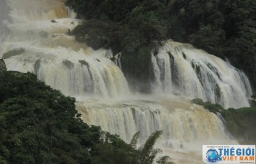
[[[101,132],[74,103],[34,74],[1,74],[0,163],[89,163]]]

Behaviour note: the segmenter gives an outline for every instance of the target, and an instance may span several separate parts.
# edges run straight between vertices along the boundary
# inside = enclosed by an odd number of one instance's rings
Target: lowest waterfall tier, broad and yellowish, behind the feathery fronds
[[[117,133],[127,142],[140,131],[139,144],[143,144],[152,132],[162,130],[157,147],[175,163],[203,163],[203,144],[237,144],[221,118],[185,100],[144,95],[128,101],[78,101],[76,106],[89,125]]]

